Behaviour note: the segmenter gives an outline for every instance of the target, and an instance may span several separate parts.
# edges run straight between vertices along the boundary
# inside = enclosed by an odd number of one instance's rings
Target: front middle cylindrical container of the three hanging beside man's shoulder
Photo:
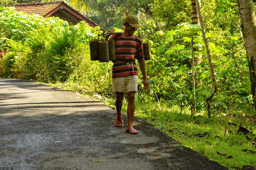
[[[100,62],[109,62],[108,41],[98,41],[98,52]]]

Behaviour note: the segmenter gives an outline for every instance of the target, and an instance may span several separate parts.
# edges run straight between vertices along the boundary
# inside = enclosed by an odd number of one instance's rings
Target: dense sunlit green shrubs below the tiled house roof
[[[83,21],[69,26],[60,18],[45,19],[17,12],[12,7],[3,8],[0,17],[3,36],[0,47],[12,51],[4,57],[1,69],[5,77],[10,78],[65,81],[75,71],[72,69],[79,67],[77,61],[81,57],[76,53],[81,55],[82,48],[85,48],[82,51],[88,51],[89,40],[99,30]]]

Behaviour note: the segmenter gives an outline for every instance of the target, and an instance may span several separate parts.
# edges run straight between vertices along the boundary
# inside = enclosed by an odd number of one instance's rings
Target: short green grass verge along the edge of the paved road
[[[66,84],[50,84],[58,88],[79,91],[83,88],[79,84],[68,81]],[[86,92],[92,97],[93,92]],[[115,100],[104,101],[115,107]],[[228,133],[224,136],[227,116],[205,117],[203,111],[198,112],[193,121],[189,121],[190,108],[184,108],[180,114],[180,107],[169,106],[168,103],[136,103],[135,116],[153,124],[157,129],[173,137],[184,146],[220,163],[229,169],[242,169],[243,165],[256,166],[256,146],[247,140],[243,134],[238,134],[238,127],[228,126]],[[124,100],[122,111],[126,113],[127,100]],[[220,115],[220,113],[218,113]],[[214,115],[214,114],[213,114]],[[250,124],[245,119],[232,117],[232,122],[242,123],[247,129]],[[250,130],[250,129],[249,129]],[[255,134],[255,124],[253,133]]]

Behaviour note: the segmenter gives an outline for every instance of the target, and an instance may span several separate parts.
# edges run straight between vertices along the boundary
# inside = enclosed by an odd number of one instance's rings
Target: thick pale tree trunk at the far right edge
[[[249,63],[253,104],[256,109],[256,17],[252,0],[238,0],[238,9]]]

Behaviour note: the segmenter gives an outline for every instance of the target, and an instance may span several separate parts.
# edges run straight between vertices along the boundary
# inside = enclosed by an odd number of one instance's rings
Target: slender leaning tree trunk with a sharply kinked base
[[[202,35],[203,35],[203,39],[204,39],[204,45],[205,45],[205,49],[206,49],[206,53],[207,53],[207,58],[208,58],[209,68],[210,68],[210,74],[211,74],[211,79],[212,79],[212,86],[213,86],[213,90],[214,90],[213,93],[211,94],[211,96],[206,99],[206,103],[208,105],[207,106],[208,116],[210,117],[211,116],[210,100],[212,99],[212,97],[214,96],[215,93],[218,94],[218,87],[217,87],[215,74],[214,74],[214,66],[213,66],[213,63],[212,63],[212,54],[211,54],[211,51],[210,51],[209,42],[208,42],[206,32],[205,32],[205,29],[204,29],[204,21],[203,21],[203,17],[202,17],[200,0],[196,0],[196,8],[197,8],[198,17],[199,17],[199,21],[200,21],[200,26],[201,26],[201,30],[202,30]]]

